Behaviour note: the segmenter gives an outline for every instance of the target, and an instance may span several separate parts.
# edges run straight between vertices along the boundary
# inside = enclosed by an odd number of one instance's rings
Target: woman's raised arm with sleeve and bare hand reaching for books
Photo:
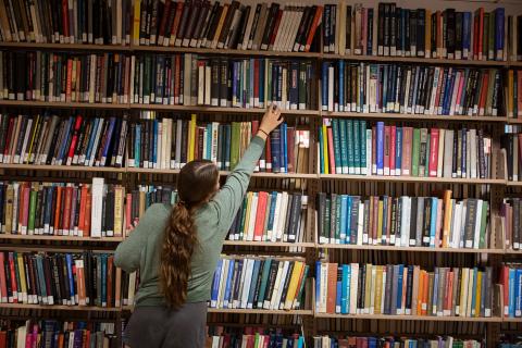
[[[281,111],[276,107],[270,107],[261,121],[257,135],[245,151],[241,160],[226,179],[225,185],[222,186],[211,201],[211,204],[215,204],[217,210],[220,226],[225,231],[232,225],[237,210],[241,206],[243,197],[250,182],[250,176],[263,152],[264,142],[269,134],[283,122],[279,117]],[[223,238],[225,236],[223,236]]]

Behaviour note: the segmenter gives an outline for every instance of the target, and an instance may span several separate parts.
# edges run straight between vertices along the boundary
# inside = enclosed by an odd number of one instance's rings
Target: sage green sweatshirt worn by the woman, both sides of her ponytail
[[[220,259],[223,241],[241,206],[250,176],[264,148],[264,140],[254,137],[243,159],[212,200],[196,211],[195,222],[199,245],[192,253],[191,275],[188,281],[187,302],[210,299],[212,278]],[[122,241],[114,254],[116,266],[126,272],[139,270],[136,307],[164,306],[159,291],[160,250],[163,229],[171,206],[152,204],[138,226]]]

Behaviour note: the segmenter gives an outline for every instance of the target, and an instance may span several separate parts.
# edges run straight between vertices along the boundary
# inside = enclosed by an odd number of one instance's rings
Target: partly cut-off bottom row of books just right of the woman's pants
[[[302,348],[304,337],[300,334],[285,334],[281,330],[263,330],[262,327],[245,327],[245,333],[213,332],[209,327],[211,348],[263,348],[284,347]]]

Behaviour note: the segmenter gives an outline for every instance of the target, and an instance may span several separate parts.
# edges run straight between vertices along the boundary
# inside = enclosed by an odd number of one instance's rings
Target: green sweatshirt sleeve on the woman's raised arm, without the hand
[[[250,176],[252,175],[259,158],[263,153],[263,149],[264,140],[256,136],[252,141],[250,141],[250,146],[245,151],[236,169],[226,179],[225,185],[221,187],[217,195],[215,195],[210,202],[211,204],[214,204],[217,210],[220,227],[225,231],[225,234],[228,232],[228,228],[236,216],[237,210],[241,206],[243,198],[247,191],[248,184],[250,183]],[[222,239],[225,236],[222,236]]]

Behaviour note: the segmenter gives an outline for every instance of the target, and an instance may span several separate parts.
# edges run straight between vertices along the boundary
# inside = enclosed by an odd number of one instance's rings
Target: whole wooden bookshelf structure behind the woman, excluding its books
[[[370,1],[372,4],[376,2]],[[412,7],[405,2],[407,7]],[[445,1],[436,1],[436,7],[449,5]],[[460,1],[462,7],[467,1]],[[496,3],[496,1],[495,1]],[[500,2],[500,5],[502,2]],[[421,5],[430,7],[428,2],[424,2]],[[494,7],[494,3],[487,5]],[[475,4],[473,4],[475,7]],[[477,7],[477,5],[476,5]],[[512,9],[520,10],[518,4],[512,5]],[[148,53],[148,54],[174,54],[174,53],[192,53],[201,54],[203,57],[228,57],[228,58],[285,58],[285,59],[300,59],[306,58],[312,60],[318,66],[325,60],[345,60],[353,63],[358,62],[373,62],[373,63],[397,63],[397,64],[423,64],[423,65],[443,65],[455,66],[457,69],[465,67],[484,67],[484,69],[517,69],[522,67],[522,62],[512,61],[510,59],[506,61],[478,61],[478,60],[452,60],[452,59],[433,59],[433,58],[417,58],[417,57],[380,57],[380,55],[365,55],[365,54],[336,54],[324,53],[322,50],[319,52],[283,52],[283,51],[265,51],[265,50],[238,50],[238,49],[207,49],[207,48],[185,48],[185,47],[158,47],[158,46],[137,46],[130,44],[128,46],[122,45],[79,45],[79,44],[26,44],[26,42],[0,42],[0,49],[2,50],[24,50],[24,51],[66,51],[66,52],[101,52],[110,53],[117,52],[124,54],[134,53]],[[320,70],[318,69],[316,77],[321,78]],[[316,95],[321,95],[321,85],[318,84]],[[137,119],[140,111],[156,111],[171,114],[178,113],[197,113],[209,114],[209,119],[213,120],[216,116],[223,114],[232,114],[234,116],[241,115],[245,119],[258,117],[264,112],[263,109],[245,109],[245,108],[219,108],[219,107],[204,107],[204,105],[165,105],[165,104],[141,104],[141,103],[87,103],[87,102],[41,102],[41,101],[17,101],[17,100],[0,100],[0,108],[4,110],[53,110],[60,109],[61,111],[83,110],[89,111],[103,111],[110,112],[126,112],[130,117]],[[313,210],[316,209],[314,197],[319,191],[325,190],[326,185],[331,186],[331,192],[349,192],[356,195],[377,195],[386,194],[388,189],[393,188],[395,192],[403,192],[405,195],[415,196],[425,195],[430,188],[435,186],[444,186],[457,188],[461,198],[473,197],[482,188],[489,190],[486,196],[490,202],[492,223],[490,228],[494,233],[499,234],[500,228],[494,219],[498,217],[499,200],[504,197],[505,191],[508,188],[518,189],[522,187],[522,182],[507,181],[504,173],[504,162],[501,156],[497,152],[493,153],[493,173],[495,175],[492,178],[448,178],[448,177],[413,177],[413,176],[376,176],[376,175],[350,175],[350,174],[320,174],[318,173],[318,156],[315,144],[316,127],[322,124],[324,119],[338,117],[349,120],[370,120],[370,121],[385,121],[389,122],[408,122],[412,124],[417,123],[451,123],[457,124],[480,124],[481,126],[493,129],[493,137],[496,140],[504,132],[506,124],[521,124],[521,119],[511,119],[506,115],[499,116],[467,116],[467,115],[424,115],[424,114],[402,114],[402,113],[359,113],[359,112],[328,112],[321,110],[321,104],[314,110],[284,110],[283,114],[290,117],[307,119],[308,124],[306,128],[310,130],[310,164],[307,173],[254,173],[252,176],[258,183],[254,184],[256,188],[262,189],[264,186],[275,186],[281,189],[287,189],[289,182],[300,181],[306,183],[301,188],[301,191],[309,196],[309,208],[307,210],[307,236],[306,241],[302,243],[268,243],[268,241],[239,241],[239,240],[225,240],[224,246],[228,254],[270,254],[272,257],[284,258],[286,256],[291,257],[289,248],[301,249],[307,264],[313,266],[314,262],[319,259],[336,260],[339,256],[351,254],[356,251],[371,251],[380,262],[388,262],[389,260],[400,259],[396,254],[402,252],[409,254],[412,259],[422,259],[425,254],[430,254],[439,262],[447,254],[450,258],[453,256],[459,258],[464,254],[465,257],[476,258],[476,262],[487,262],[492,265],[499,265],[504,261],[504,257],[513,257],[520,261],[522,251],[510,250],[495,246],[495,248],[485,249],[467,249],[467,248],[426,248],[426,247],[395,247],[395,246],[368,246],[368,245],[338,245],[338,244],[319,244],[314,234],[314,216]],[[87,115],[88,116],[88,115]],[[136,184],[145,178],[154,177],[156,181],[165,181],[173,184],[175,175],[178,170],[169,169],[141,169],[141,167],[100,167],[100,166],[75,166],[75,165],[32,165],[32,164],[0,164],[0,177],[2,179],[11,179],[18,177],[27,177],[27,181],[38,181],[41,176],[41,172],[51,173],[52,177],[61,179],[62,182],[70,182],[71,179],[77,179],[79,182],[88,182],[90,176],[109,176],[114,175],[115,182],[121,183],[127,188],[133,188]],[[228,175],[229,172],[221,171],[221,176]],[[88,175],[85,178],[84,175]],[[46,176],[47,178],[47,176]],[[274,184],[275,183],[275,184]],[[336,186],[339,185],[339,186]],[[346,185],[340,187],[340,185]],[[358,187],[356,187],[358,186]],[[401,187],[401,188],[398,188]],[[406,188],[408,187],[408,188]],[[403,189],[402,189],[403,188]],[[298,189],[296,189],[298,190]],[[476,192],[475,192],[476,191]],[[478,194],[476,194],[478,195]],[[497,235],[497,237],[499,237]],[[95,252],[110,252],[115,248],[115,245],[123,240],[123,237],[77,237],[77,236],[42,236],[42,235],[9,235],[0,234],[1,246],[0,250],[18,250],[18,251],[59,251],[59,252],[76,252],[78,250],[91,250]],[[77,245],[64,245],[62,246],[30,246],[33,241],[52,241],[52,243],[69,243],[74,241]],[[18,243],[24,243],[20,245]],[[27,246],[25,245],[27,244]],[[85,243],[85,244],[84,244]],[[97,244],[105,244],[107,247],[99,248]],[[403,259],[401,259],[403,260]],[[391,261],[389,261],[391,262]],[[398,262],[398,261],[397,261]],[[442,261],[440,261],[442,262]],[[312,273],[313,275],[313,273]],[[254,309],[209,309],[209,313],[224,314],[228,316],[222,322],[223,325],[237,325],[231,318],[237,318],[234,315],[239,314],[266,314],[266,315],[299,315],[302,316],[302,328],[304,335],[310,339],[318,333],[318,321],[322,323],[334,323],[331,327],[338,327],[338,323],[345,320],[347,321],[378,321],[378,322],[447,322],[448,325],[453,325],[458,331],[463,324],[471,323],[480,324],[484,323],[487,327],[487,332],[493,334],[488,335],[487,346],[495,347],[496,341],[490,337],[495,337],[498,334],[499,323],[514,323],[522,324],[522,320],[519,318],[461,318],[461,316],[425,316],[425,315],[384,315],[384,314],[327,314],[316,313],[314,310],[314,303],[309,303],[307,309],[302,310],[254,310]],[[101,307],[82,307],[82,306],[39,306],[39,304],[17,304],[17,303],[0,303],[1,309],[8,310],[58,310],[58,311],[77,311],[86,313],[89,312],[110,312],[116,314],[117,321],[121,323],[122,316],[128,316],[128,312],[133,310],[132,306],[124,306],[122,308],[101,308]],[[417,324],[417,323],[415,323]],[[522,326],[518,326],[522,330]],[[462,336],[465,336],[465,330],[462,330]],[[335,332],[335,330],[332,330]],[[440,332],[444,334],[444,332]]]

